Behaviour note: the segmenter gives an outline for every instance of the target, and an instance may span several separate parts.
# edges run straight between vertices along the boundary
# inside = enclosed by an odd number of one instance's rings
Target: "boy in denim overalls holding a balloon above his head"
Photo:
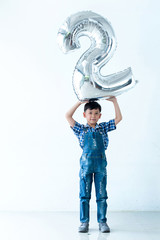
[[[77,102],[67,113],[66,119],[78,137],[83,149],[80,158],[80,221],[79,232],[88,232],[89,228],[89,201],[91,198],[92,180],[94,179],[97,202],[97,220],[101,232],[110,232],[107,225],[107,160],[105,150],[108,146],[108,132],[116,129],[122,120],[121,111],[115,97],[107,99],[114,104],[115,119],[97,124],[101,117],[101,106],[97,102],[87,102],[83,116],[86,125],[79,124],[73,119],[76,109],[83,103]]]

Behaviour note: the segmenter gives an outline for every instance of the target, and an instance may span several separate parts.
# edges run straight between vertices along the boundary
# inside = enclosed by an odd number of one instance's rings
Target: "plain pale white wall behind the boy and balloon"
[[[159,9],[158,0],[0,2],[0,210],[79,210],[81,149],[64,115],[77,101],[72,73],[89,40],[64,55],[56,35],[81,10],[115,30],[118,47],[102,74],[131,66],[139,80],[118,97],[123,121],[109,134],[109,210],[160,210]],[[102,121],[113,118],[112,103],[100,103]],[[75,119],[85,123],[82,112]]]

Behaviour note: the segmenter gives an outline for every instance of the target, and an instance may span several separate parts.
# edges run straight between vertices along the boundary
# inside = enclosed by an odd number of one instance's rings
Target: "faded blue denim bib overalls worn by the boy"
[[[84,148],[80,159],[80,221],[89,222],[89,201],[94,178],[97,202],[97,220],[106,222],[107,173],[106,156],[102,133],[86,132]]]

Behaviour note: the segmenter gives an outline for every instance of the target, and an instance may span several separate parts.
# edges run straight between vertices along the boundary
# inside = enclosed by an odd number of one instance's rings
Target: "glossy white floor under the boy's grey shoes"
[[[109,212],[110,233],[100,233],[96,213],[78,233],[79,213],[0,212],[0,240],[159,240],[160,212]]]

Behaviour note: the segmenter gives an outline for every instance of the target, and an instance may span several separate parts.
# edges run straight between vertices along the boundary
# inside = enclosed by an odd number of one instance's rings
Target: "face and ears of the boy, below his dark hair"
[[[84,113],[83,116],[87,119],[87,123],[91,126],[94,127],[98,120],[101,117],[101,113],[99,109],[87,109]]]

